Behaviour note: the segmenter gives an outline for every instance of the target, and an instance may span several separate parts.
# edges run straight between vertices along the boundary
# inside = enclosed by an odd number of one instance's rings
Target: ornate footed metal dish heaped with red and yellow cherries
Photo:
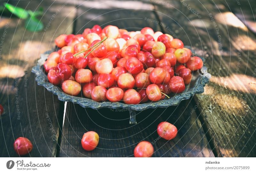
[[[108,25],[61,34],[33,67],[37,84],[84,108],[136,111],[176,106],[204,92],[211,75],[189,47],[149,27]]]

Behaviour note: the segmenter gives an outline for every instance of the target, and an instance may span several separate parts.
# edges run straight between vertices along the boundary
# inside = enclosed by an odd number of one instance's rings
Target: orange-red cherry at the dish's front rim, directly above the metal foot
[[[139,104],[141,95],[135,89],[128,89],[124,92],[123,101],[125,104]]]

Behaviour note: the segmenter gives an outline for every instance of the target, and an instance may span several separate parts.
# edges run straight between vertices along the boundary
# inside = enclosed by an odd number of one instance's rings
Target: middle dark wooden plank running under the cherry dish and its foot
[[[157,20],[152,4],[136,1],[98,4],[80,4],[74,33],[81,33],[85,27],[91,28],[95,24],[116,25],[130,31],[145,26],[160,30],[159,25],[145,20]],[[89,10],[92,7],[95,8]],[[129,125],[129,112],[124,109],[92,110],[68,102],[66,113],[60,157],[130,157],[141,140],[153,142],[154,157],[214,157],[190,101],[183,101],[179,106],[168,109],[142,111],[136,116],[138,124],[133,126]],[[175,139],[157,139],[156,128],[162,121],[177,126],[179,132]],[[91,152],[86,152],[81,146],[81,138],[87,131],[96,131],[100,136],[98,148]]]

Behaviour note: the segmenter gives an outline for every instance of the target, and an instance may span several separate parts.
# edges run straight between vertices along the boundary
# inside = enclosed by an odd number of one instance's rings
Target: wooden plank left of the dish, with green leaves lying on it
[[[15,1],[10,3],[30,10],[44,7],[45,14],[41,20],[46,27],[52,15],[65,2],[22,1],[17,4]],[[1,17],[1,34],[9,23],[0,68],[0,103],[5,108],[0,127],[1,157],[17,157],[13,150],[13,142],[16,138],[23,136],[30,139],[34,146],[26,156],[55,157],[57,153],[64,104],[44,87],[37,86],[31,68],[36,64],[36,59],[41,53],[54,47],[53,38],[56,35],[72,31],[74,9],[72,4],[67,4],[65,10],[59,11],[54,17],[45,32],[37,33],[25,30],[24,20]]]

